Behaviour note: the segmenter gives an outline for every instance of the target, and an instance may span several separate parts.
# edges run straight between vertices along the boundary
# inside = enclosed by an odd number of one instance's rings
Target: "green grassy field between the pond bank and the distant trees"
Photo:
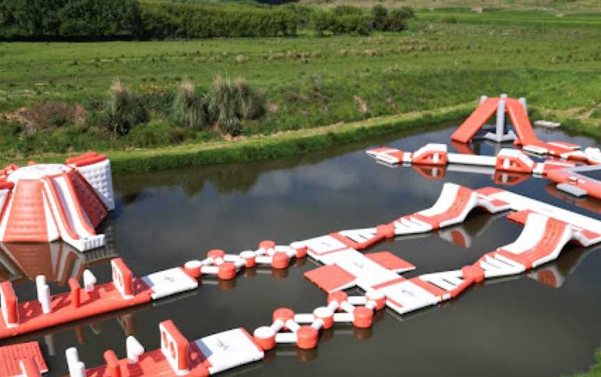
[[[457,23],[429,22],[426,13],[454,15]],[[472,23],[475,13],[426,13],[409,31],[369,37],[1,43],[0,154],[27,158],[221,139],[214,131],[170,137],[169,117],[181,81],[207,89],[218,74],[246,78],[266,96],[266,114],[244,122],[245,136],[438,109],[501,92],[599,124],[601,18],[566,16],[561,19],[577,22],[542,27],[506,11],[486,13],[481,23]],[[582,25],[594,22],[599,27]],[[150,122],[125,137],[97,126],[93,116],[116,77],[153,110]],[[15,109],[48,99],[79,104],[91,120],[35,134],[6,120]]]

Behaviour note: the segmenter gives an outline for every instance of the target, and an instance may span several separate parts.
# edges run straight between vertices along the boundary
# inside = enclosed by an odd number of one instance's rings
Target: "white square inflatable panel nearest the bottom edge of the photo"
[[[252,339],[243,328],[234,328],[203,337],[194,343],[211,364],[209,373],[216,374],[261,360],[264,353]]]

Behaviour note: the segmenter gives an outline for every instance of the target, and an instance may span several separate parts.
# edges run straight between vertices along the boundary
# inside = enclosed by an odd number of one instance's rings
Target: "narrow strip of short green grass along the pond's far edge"
[[[271,136],[250,136],[235,138],[233,141],[101,152],[109,155],[115,173],[165,170],[209,163],[257,161],[323,150],[378,135],[392,134],[415,127],[463,118],[473,108],[474,103],[468,103],[433,111],[387,115],[360,122],[343,122],[312,129],[286,131]],[[39,161],[60,162],[64,161],[66,157],[66,154],[40,156]],[[8,162],[0,159],[0,163]]]

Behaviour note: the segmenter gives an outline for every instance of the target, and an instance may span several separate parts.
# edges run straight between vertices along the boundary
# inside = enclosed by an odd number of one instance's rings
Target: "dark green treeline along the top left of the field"
[[[113,40],[296,35],[399,31],[410,8],[371,10],[338,6],[332,10],[287,4],[214,6],[175,1],[3,0],[0,39]]]

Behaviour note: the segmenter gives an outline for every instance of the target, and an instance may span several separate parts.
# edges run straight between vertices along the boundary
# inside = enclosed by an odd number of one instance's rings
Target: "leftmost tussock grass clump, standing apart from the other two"
[[[102,115],[106,127],[121,136],[148,120],[148,111],[140,98],[131,93],[120,79],[113,82],[109,98],[104,102]]]

